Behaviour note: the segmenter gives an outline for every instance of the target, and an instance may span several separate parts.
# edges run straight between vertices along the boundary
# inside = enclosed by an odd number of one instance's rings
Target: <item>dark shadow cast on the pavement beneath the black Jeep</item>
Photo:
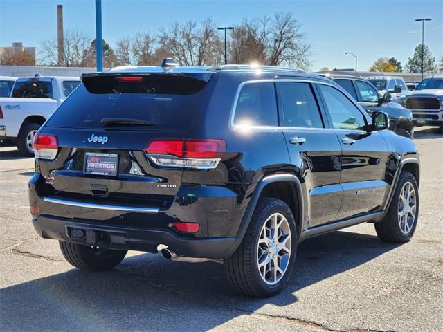
[[[302,288],[398,246],[342,231],[309,239],[298,248],[287,287],[268,299],[233,293],[224,266],[215,262],[189,264],[160,255],[134,255],[109,272],[72,269],[4,288],[1,325],[6,331],[208,330],[266,304],[294,304]]]

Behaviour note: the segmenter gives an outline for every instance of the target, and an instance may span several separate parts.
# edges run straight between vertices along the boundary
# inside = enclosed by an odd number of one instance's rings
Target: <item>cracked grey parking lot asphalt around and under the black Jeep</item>
[[[309,239],[269,299],[235,295],[214,262],[129,252],[87,273],[37,237],[27,182],[33,159],[0,148],[1,331],[443,331],[443,135],[415,131],[422,169],[413,240],[383,243],[372,224]]]

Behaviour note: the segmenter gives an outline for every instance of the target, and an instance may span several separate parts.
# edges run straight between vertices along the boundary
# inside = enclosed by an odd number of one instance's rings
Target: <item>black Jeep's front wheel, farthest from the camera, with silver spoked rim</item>
[[[417,227],[418,212],[417,181],[410,172],[401,172],[386,216],[374,224],[378,237],[395,243],[409,241]]]

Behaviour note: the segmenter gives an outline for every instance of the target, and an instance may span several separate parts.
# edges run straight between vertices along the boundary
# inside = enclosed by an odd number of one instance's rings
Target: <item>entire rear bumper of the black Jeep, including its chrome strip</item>
[[[246,205],[227,187],[182,185],[168,208],[60,199],[45,194],[45,187],[40,174],[29,181],[29,203],[39,208],[33,224],[46,239],[148,252],[163,244],[179,256],[210,259],[230,257],[242,241],[237,232]],[[199,232],[179,232],[177,221],[199,223]],[[89,236],[72,237],[73,229]]]

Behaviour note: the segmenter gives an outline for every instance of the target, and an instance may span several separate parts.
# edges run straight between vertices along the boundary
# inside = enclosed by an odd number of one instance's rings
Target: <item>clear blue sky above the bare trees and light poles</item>
[[[57,4],[63,5],[64,28],[95,36],[94,0],[0,0],[0,46],[40,43],[57,33]],[[293,12],[313,45],[312,69],[353,68],[367,70],[378,57],[395,57],[406,64],[422,42],[440,60],[443,55],[442,0],[294,0],[294,1],[142,1],[102,0],[103,38],[115,47],[120,37],[138,32],[155,33],[173,21],[201,21],[211,16],[220,25],[238,24],[244,17],[262,17],[275,11]]]

